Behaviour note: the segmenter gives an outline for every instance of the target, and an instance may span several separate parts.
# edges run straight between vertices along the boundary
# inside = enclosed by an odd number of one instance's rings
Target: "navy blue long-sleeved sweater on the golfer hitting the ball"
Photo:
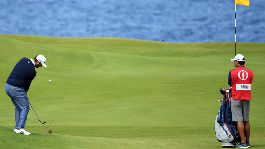
[[[22,58],[16,63],[6,83],[18,88],[24,88],[28,92],[31,81],[36,76],[34,64],[28,58]]]

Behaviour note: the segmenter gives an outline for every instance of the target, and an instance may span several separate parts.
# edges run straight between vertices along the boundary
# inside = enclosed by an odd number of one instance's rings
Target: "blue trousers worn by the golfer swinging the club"
[[[11,98],[15,108],[15,129],[25,129],[29,113],[29,98],[24,89],[14,87],[6,83],[6,94]]]

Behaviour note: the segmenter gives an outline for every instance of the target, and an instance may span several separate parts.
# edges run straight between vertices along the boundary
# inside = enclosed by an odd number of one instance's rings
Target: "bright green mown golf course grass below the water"
[[[264,148],[265,43],[236,44],[254,72],[251,148]],[[0,34],[0,50],[0,148],[222,148],[214,120],[233,42]],[[38,54],[47,67],[36,69],[28,97],[46,124],[31,109],[32,135],[16,134],[4,85],[21,58]]]

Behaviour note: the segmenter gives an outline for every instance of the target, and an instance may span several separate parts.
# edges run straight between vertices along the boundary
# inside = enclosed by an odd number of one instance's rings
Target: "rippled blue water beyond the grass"
[[[234,0],[1,0],[0,34],[235,40]],[[236,6],[236,41],[265,42],[264,0]]]

